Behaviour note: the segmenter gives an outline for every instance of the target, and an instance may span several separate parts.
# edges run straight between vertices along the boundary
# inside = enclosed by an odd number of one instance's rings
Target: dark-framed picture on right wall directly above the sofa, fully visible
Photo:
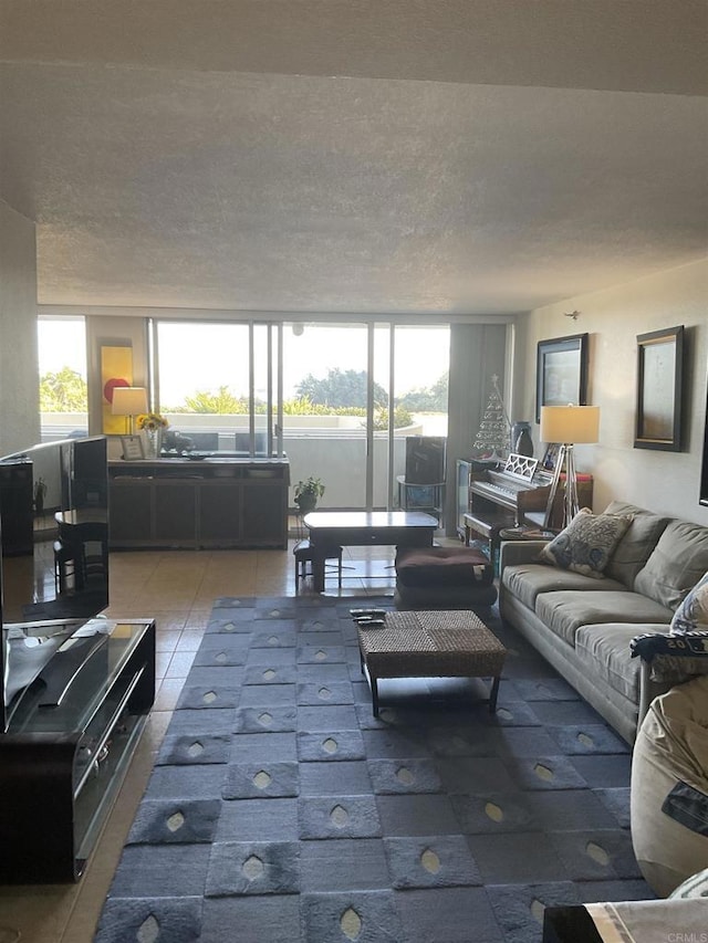
[[[684,327],[637,336],[635,449],[681,450]]]

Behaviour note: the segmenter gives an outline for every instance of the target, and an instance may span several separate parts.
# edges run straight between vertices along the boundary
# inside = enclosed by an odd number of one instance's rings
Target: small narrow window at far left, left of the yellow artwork
[[[83,317],[38,318],[42,441],[88,433]]]

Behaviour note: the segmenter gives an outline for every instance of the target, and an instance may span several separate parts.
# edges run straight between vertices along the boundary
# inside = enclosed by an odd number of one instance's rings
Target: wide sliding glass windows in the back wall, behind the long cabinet
[[[154,323],[156,402],[202,450],[284,452],[324,507],[396,506],[406,436],[447,433],[449,328]],[[393,406],[393,408],[392,408]]]

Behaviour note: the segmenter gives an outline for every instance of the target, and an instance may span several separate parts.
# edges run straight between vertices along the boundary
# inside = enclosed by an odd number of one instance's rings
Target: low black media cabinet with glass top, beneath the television
[[[113,806],[155,700],[155,622],[112,626],[58,652],[0,734],[0,883],[77,880]]]

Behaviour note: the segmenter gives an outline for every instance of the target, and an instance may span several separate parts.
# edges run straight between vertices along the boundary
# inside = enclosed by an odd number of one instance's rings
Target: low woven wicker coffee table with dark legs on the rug
[[[358,625],[357,633],[375,717],[379,678],[491,678],[489,710],[497,710],[507,649],[475,612],[386,612],[383,627]]]

